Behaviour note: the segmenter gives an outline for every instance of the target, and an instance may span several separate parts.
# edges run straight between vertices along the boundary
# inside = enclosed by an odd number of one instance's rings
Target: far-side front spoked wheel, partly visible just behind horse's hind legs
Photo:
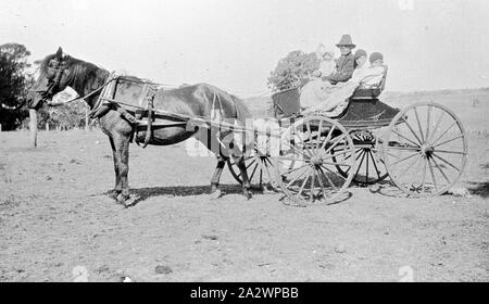
[[[275,188],[275,174],[273,169],[273,164],[269,156],[261,154],[259,151],[254,151],[252,156],[244,160],[247,166],[248,178],[250,185],[254,189],[263,190],[265,188]],[[227,160],[227,166],[233,177],[242,183],[241,173],[235,163],[233,157]]]

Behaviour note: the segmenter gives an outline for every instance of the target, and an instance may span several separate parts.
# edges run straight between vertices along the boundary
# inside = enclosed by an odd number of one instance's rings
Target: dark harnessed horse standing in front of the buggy
[[[133,201],[129,197],[128,172],[129,172],[129,142],[147,138],[148,132],[151,140],[146,144],[170,145],[181,142],[199,131],[199,127],[188,127],[189,124],[172,117],[162,117],[168,124],[154,128],[152,131],[138,130],[131,119],[128,119],[127,111],[121,111],[117,102],[101,105],[100,96],[104,86],[110,83],[111,73],[97,66],[96,64],[75,59],[63,53],[60,47],[54,54],[46,56],[41,64],[39,76],[35,84],[27,92],[26,103],[29,109],[39,109],[42,103],[48,105],[52,101],[52,97],[66,87],[71,87],[78,96],[87,102],[91,110],[91,115],[99,119],[102,131],[108,135],[112,148],[115,172],[115,187],[108,193],[116,203],[129,206]],[[141,84],[145,81],[138,77],[123,77],[117,79],[117,91],[126,100],[137,97],[141,92]],[[214,86],[208,84],[198,84],[185,86],[172,90],[163,90],[156,88],[153,94],[154,109],[161,109],[168,113],[174,113],[177,117],[204,117],[210,118],[212,112],[215,111],[218,100],[218,110],[222,118],[233,119],[242,124],[246,118],[251,117],[249,110],[244,103],[237,97],[225,92]],[[130,114],[130,112],[129,112]],[[129,115],[131,116],[131,115]],[[149,119],[148,119],[149,121]],[[159,119],[160,121],[160,119]],[[148,122],[149,124],[149,122]],[[229,135],[230,131],[220,131],[216,128],[208,128],[209,136],[198,138],[210,151],[215,148],[215,141],[222,143],[222,139]],[[209,140],[211,139],[211,140]],[[136,141],[138,142],[138,141]],[[215,149],[214,149],[215,150]],[[249,200],[251,199],[250,182],[244,164],[244,156],[230,155],[224,149],[212,151],[217,159],[215,172],[211,178],[211,195],[213,198],[221,197],[218,183],[226,161],[233,156],[241,173],[242,193]],[[226,152],[226,153],[225,153]]]

